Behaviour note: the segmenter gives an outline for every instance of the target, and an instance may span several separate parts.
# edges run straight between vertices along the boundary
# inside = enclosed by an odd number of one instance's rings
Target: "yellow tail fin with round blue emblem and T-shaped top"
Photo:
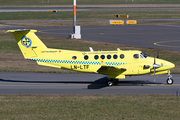
[[[48,48],[44,43],[36,36],[37,30],[8,30],[7,32],[13,33],[19,48],[24,58],[37,57],[42,54],[42,51],[47,51]]]

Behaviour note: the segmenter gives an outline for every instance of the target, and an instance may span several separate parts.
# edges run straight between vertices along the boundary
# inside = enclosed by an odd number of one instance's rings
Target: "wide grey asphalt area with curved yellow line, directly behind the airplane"
[[[28,27],[4,26],[0,30],[36,29],[37,34],[66,37],[73,32],[72,27]],[[82,40],[108,42],[131,46],[180,51],[180,25],[119,25],[82,26]],[[115,50],[116,48],[112,48]]]

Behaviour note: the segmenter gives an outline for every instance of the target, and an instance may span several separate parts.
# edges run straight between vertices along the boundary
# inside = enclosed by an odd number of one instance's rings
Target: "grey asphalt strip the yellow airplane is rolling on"
[[[174,84],[166,84],[166,75],[136,76],[107,87],[106,77],[99,74],[16,73],[0,72],[0,94],[174,94],[180,91],[180,75],[173,75]],[[154,80],[155,79],[155,80]]]

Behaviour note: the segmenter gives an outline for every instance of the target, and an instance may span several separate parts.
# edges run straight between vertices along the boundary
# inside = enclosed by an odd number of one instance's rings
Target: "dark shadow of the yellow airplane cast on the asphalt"
[[[23,80],[5,80],[0,79],[1,82],[14,82],[14,83],[64,83],[64,84],[89,84],[87,89],[101,89],[104,87],[108,87],[106,85],[107,77],[103,77],[100,79],[92,81],[23,81]],[[148,80],[131,80],[131,81],[121,81],[114,85],[114,86],[145,86],[147,84],[163,84],[158,82],[152,82]]]

